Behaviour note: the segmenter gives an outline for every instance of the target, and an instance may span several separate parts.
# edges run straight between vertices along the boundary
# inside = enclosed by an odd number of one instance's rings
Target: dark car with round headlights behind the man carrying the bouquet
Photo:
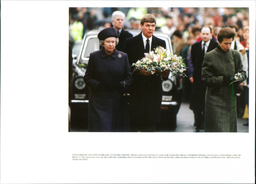
[[[134,36],[140,30],[128,30]],[[69,132],[84,132],[88,130],[88,94],[89,88],[84,83],[83,77],[89,60],[90,53],[99,50],[100,44],[97,37],[100,30],[92,30],[84,35],[81,50],[73,61],[73,77],[69,89],[70,121]],[[154,35],[166,42],[166,49],[172,52],[172,44],[168,35],[155,31]],[[156,131],[175,130],[176,115],[180,108],[180,83],[176,77],[169,76],[163,81],[163,99],[161,107],[160,124]]]

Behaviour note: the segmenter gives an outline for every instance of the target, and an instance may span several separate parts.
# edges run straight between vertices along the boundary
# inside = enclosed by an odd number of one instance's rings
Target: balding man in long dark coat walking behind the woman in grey
[[[201,132],[204,130],[204,101],[206,85],[203,84],[201,80],[202,64],[204,61],[204,54],[218,46],[217,42],[211,40],[211,32],[212,30],[210,27],[203,27],[201,29],[202,40],[200,42],[194,43],[191,46],[191,60],[194,66],[194,73],[189,108],[194,112],[196,125],[194,132]]]

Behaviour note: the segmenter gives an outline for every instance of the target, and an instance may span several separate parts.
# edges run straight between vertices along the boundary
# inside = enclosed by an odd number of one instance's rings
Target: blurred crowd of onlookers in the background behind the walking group
[[[69,33],[73,42],[82,40],[84,34],[92,29],[113,27],[111,15],[114,11],[124,12],[124,29],[140,29],[140,19],[147,13],[156,17],[156,30],[169,34],[172,40],[173,52],[184,59],[188,67],[191,45],[201,41],[200,32],[203,26],[212,28],[212,39],[217,41],[217,33],[222,27],[232,27],[236,30],[236,43],[232,49],[246,55],[243,62],[248,79],[245,81],[245,91],[237,96],[238,117],[244,116],[249,100],[249,9],[248,8],[129,8],[129,7],[70,7]],[[241,44],[240,44],[241,43]],[[237,48],[237,45],[242,45]],[[245,64],[246,62],[246,64]],[[190,70],[191,71],[191,68]],[[192,70],[193,71],[193,70]],[[190,74],[181,81],[183,85],[182,101],[189,102],[191,93]]]

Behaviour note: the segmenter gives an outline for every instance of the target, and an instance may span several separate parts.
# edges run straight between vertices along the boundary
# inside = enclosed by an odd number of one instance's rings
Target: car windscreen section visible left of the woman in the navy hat
[[[89,36],[88,38],[86,38],[85,43],[84,43],[82,59],[88,60],[90,54],[96,50],[100,50],[100,41],[99,41],[97,35],[96,35],[96,37]]]

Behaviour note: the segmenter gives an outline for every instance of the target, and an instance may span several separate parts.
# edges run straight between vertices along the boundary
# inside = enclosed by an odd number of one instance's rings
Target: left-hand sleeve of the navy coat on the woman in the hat
[[[91,53],[90,57],[89,57],[89,61],[88,61],[88,65],[86,67],[86,72],[84,75],[84,82],[86,85],[88,85],[90,88],[92,88],[93,90],[95,90],[97,88],[97,86],[100,84],[100,81],[95,80],[93,78],[93,66],[94,66],[94,60],[95,57],[94,55]]]

